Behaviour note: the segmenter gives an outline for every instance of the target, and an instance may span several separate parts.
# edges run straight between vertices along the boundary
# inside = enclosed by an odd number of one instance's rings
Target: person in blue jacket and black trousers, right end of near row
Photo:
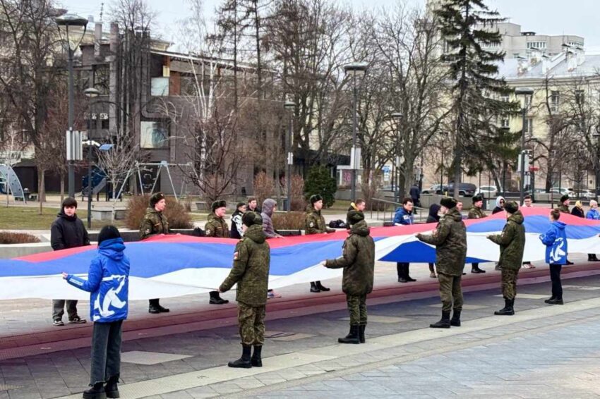
[[[567,234],[565,223],[558,221],[560,211],[552,209],[550,212],[550,228],[539,239],[546,245],[546,262],[550,265],[550,279],[552,281],[552,297],[544,302],[550,305],[563,305],[563,285],[560,283],[560,269],[567,264]]]

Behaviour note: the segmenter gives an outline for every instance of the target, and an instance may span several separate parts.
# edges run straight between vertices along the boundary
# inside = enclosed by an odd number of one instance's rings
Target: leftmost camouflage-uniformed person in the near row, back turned
[[[265,306],[269,281],[270,247],[263,233],[263,219],[248,211],[241,218],[244,237],[234,252],[234,264],[219,290],[224,293],[237,283],[239,335],[242,355],[229,367],[262,367],[260,357],[265,342]],[[251,356],[252,345],[254,352]]]

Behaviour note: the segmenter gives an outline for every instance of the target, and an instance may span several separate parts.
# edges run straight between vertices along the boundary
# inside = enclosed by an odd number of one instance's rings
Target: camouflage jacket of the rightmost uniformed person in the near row
[[[500,267],[512,270],[521,268],[525,249],[524,220],[521,211],[516,211],[508,218],[501,234],[490,236],[493,243],[500,245]]]

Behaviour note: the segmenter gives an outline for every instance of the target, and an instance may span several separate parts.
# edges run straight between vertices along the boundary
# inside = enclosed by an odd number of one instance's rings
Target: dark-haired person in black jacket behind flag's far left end
[[[83,221],[77,217],[77,200],[75,198],[66,198],[61,204],[61,211],[56,216],[56,220],[50,227],[50,245],[53,250],[59,251],[90,245],[88,231],[85,230]],[[52,324],[54,326],[64,326],[65,305],[69,323],[82,324],[86,322],[77,314],[76,300],[52,300]]]

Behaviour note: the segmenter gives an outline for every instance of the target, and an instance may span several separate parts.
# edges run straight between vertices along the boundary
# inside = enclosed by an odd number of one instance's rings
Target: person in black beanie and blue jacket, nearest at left
[[[104,226],[98,235],[98,256],[92,260],[88,279],[63,272],[63,278],[90,294],[92,333],[91,388],[84,399],[119,398],[121,327],[127,318],[129,259],[119,230]],[[104,386],[106,382],[106,386]]]

